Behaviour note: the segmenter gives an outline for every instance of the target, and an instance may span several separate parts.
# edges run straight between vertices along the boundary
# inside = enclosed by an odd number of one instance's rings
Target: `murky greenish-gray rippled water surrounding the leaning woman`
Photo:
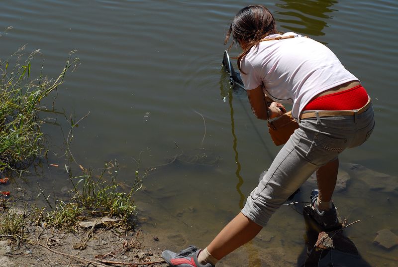
[[[251,3],[251,2],[250,2]],[[345,235],[362,260],[347,266],[395,266],[398,248],[373,244],[376,232],[398,235],[397,209],[397,25],[395,0],[278,0],[262,2],[281,31],[296,31],[330,47],[361,79],[374,99],[377,128],[370,140],[346,151],[340,174],[351,179],[336,192],[340,215],[352,225]],[[244,93],[232,93],[221,70],[224,32],[246,1],[28,1],[0,3],[0,58],[27,44],[41,49],[32,65],[56,76],[71,50],[81,59],[58,90],[56,108],[81,118],[71,150],[83,166],[118,159],[119,178],[132,183],[141,168],[158,166],[136,195],[144,230],[160,249],[203,247],[235,216],[279,148],[264,122],[251,114]],[[231,54],[237,50],[232,49]],[[52,100],[51,100],[52,101]],[[51,103],[49,101],[49,103]],[[67,129],[62,116],[59,123]],[[63,137],[50,138],[49,163],[62,166]],[[178,147],[177,147],[178,146]],[[205,157],[205,160],[203,159]],[[168,159],[176,158],[170,164]],[[220,159],[220,160],[219,160]],[[214,163],[214,164],[207,164]],[[353,164],[367,169],[353,167]],[[384,174],[385,175],[384,175]],[[70,186],[63,168],[44,164],[26,177],[27,195]],[[382,186],[380,186],[382,184]],[[307,183],[295,200],[306,201]],[[382,188],[381,188],[382,187]],[[294,266],[305,258],[308,236],[302,210],[282,207],[251,243],[220,266]],[[321,255],[322,256],[322,255]],[[324,255],[323,255],[324,256]],[[327,255],[322,261],[339,256]],[[367,264],[363,263],[367,262]],[[324,264],[325,265],[325,264]],[[322,266],[324,266],[322,265]]]

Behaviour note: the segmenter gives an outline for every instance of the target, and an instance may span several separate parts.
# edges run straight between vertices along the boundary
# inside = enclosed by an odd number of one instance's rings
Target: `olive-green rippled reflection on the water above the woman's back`
[[[327,20],[332,16],[327,15],[336,9],[331,6],[338,3],[337,0],[282,0],[285,3],[277,3],[276,6],[286,10],[276,10],[276,20],[279,26],[290,31],[311,36],[325,35],[322,31],[327,27]]]

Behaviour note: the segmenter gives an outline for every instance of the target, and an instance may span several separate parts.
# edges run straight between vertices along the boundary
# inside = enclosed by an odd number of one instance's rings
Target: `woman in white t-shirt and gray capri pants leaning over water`
[[[316,171],[318,190],[310,196],[310,216],[331,231],[341,227],[331,201],[338,155],[366,141],[374,128],[373,107],[359,80],[324,45],[295,34],[281,35],[262,5],[250,5],[234,17],[225,38],[243,52],[238,68],[254,115],[281,116],[292,103],[299,129],[278,153],[242,211],[204,250],[164,251],[170,266],[212,267],[253,239],[271,215]],[[231,44],[231,45],[232,45]],[[265,96],[273,99],[267,107]],[[280,103],[281,102],[281,103]]]

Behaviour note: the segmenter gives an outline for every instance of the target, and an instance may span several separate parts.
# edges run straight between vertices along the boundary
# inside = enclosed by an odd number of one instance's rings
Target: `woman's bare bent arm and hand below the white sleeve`
[[[263,93],[262,85],[259,85],[254,89],[247,90],[246,92],[253,114],[257,119],[266,121],[268,119],[279,117],[286,112],[285,107],[277,102],[273,102],[269,108],[267,107],[266,96]],[[279,108],[282,108],[282,111]],[[268,118],[267,110],[269,110],[270,118]]]

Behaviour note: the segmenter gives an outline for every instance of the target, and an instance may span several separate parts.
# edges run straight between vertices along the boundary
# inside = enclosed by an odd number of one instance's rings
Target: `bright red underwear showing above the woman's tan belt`
[[[306,110],[358,110],[368,103],[368,93],[362,85],[312,99]]]

